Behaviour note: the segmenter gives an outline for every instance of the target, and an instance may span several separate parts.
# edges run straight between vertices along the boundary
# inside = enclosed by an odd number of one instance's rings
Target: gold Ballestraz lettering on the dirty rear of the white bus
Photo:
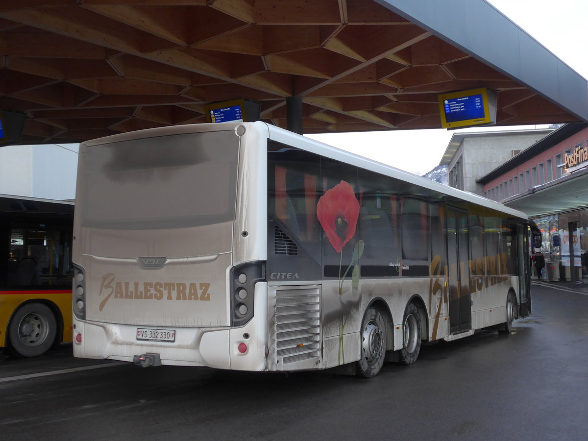
[[[133,300],[199,300],[209,301],[210,283],[183,282],[119,282],[113,273],[102,276],[99,296],[105,295],[100,303],[100,310],[114,295],[115,299]]]

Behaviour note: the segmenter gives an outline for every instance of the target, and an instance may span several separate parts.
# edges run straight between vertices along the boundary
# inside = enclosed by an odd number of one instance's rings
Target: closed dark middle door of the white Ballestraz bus
[[[449,332],[472,329],[470,299],[470,242],[467,214],[447,210],[447,263],[449,263]]]

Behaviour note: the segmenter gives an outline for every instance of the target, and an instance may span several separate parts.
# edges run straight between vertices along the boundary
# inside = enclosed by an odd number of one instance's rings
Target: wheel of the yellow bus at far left
[[[14,313],[8,326],[11,349],[23,357],[47,352],[55,341],[55,315],[42,303],[27,303]]]

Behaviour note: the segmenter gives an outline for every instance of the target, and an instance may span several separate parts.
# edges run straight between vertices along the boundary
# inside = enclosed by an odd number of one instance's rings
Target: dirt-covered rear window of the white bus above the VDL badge
[[[88,148],[84,226],[185,228],[235,218],[239,138],[233,131],[135,139]]]

